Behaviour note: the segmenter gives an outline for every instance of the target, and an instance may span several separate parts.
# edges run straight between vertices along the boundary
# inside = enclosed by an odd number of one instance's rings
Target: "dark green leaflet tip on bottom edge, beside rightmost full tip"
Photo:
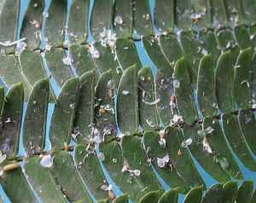
[[[229,181],[223,185],[223,198],[224,203],[233,203],[236,200],[237,183],[236,181]]]

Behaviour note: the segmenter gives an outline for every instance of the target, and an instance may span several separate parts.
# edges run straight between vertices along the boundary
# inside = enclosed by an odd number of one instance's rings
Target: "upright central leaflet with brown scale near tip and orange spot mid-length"
[[[114,86],[111,70],[103,73],[96,84],[96,108],[94,116],[96,118],[96,130],[99,131],[100,138],[104,141],[116,136],[117,133],[113,102]]]

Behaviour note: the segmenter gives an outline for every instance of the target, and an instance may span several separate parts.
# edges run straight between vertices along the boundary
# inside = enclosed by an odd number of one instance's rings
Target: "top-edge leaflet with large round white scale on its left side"
[[[117,38],[131,38],[132,36],[132,0],[116,0],[113,8],[113,30]]]

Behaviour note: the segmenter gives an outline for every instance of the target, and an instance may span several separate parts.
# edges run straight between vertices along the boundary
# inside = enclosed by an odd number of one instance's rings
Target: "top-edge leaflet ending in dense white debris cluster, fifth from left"
[[[90,15],[90,33],[95,40],[100,40],[101,33],[111,30],[113,14],[112,0],[96,0]]]

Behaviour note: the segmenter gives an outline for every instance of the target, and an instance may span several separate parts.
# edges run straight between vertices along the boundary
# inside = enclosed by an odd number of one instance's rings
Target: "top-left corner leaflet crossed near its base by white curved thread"
[[[3,1],[2,10],[0,13],[0,42],[14,42],[17,38],[18,32],[18,22],[20,14],[20,1],[9,0]],[[4,28],[3,28],[4,27]],[[8,55],[10,53],[15,53],[15,45],[3,46],[0,45],[0,50],[2,54]]]

